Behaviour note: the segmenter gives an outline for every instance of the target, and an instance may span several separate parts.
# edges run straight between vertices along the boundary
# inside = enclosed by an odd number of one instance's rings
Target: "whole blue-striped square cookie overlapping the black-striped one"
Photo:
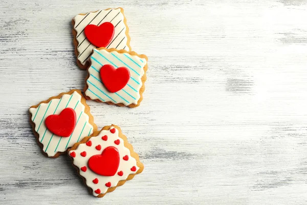
[[[93,49],[84,88],[87,99],[134,108],[145,90],[147,56],[133,51]]]

